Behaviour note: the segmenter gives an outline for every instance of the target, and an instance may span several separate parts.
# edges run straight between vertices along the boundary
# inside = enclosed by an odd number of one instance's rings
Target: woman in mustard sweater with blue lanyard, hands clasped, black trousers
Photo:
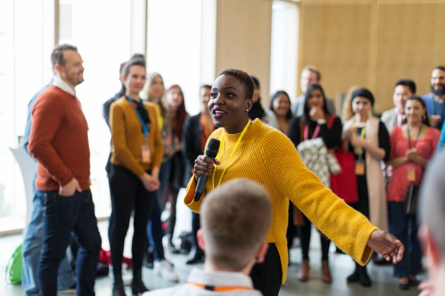
[[[145,61],[133,59],[126,64],[123,81],[126,92],[111,105],[110,129],[112,156],[109,185],[112,195],[110,250],[114,274],[113,296],[125,296],[122,284],[122,255],[131,211],[134,233],[131,245],[133,294],[147,290],[142,282],[142,257],[147,240],[147,222],[154,192],[160,186],[162,162],[161,133],[152,103],[143,102],[139,92],[146,81]]]

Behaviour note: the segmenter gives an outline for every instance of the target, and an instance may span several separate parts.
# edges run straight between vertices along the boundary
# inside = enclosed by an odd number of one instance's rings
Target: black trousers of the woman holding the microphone
[[[281,260],[275,243],[269,243],[269,250],[263,263],[253,266],[250,277],[255,289],[264,296],[277,296],[281,288]]]

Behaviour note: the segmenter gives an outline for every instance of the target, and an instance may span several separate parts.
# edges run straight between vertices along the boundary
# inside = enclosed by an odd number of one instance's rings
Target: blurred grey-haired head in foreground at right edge
[[[442,270],[445,281],[445,151],[430,161],[422,184],[420,195],[419,220],[420,240],[425,254],[429,256],[429,272],[434,280],[438,270]],[[438,291],[436,291],[438,292]],[[445,291],[442,291],[445,292]]]

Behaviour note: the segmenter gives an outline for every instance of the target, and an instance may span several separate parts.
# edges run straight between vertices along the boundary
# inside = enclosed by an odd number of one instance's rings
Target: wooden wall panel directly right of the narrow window
[[[372,5],[303,2],[300,11],[299,72],[307,64],[318,67],[332,98],[351,85],[367,85]]]

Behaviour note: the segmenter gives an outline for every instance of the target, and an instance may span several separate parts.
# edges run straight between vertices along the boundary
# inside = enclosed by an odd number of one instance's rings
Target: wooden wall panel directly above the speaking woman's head
[[[258,77],[263,106],[269,100],[272,0],[218,0],[216,73],[237,68]]]

